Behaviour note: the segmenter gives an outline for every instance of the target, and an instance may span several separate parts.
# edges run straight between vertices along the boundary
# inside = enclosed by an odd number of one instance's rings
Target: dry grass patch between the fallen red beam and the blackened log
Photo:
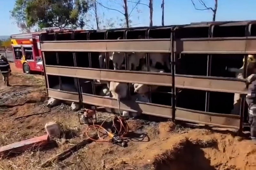
[[[62,164],[61,162],[52,162],[52,166],[49,168],[40,167],[40,165],[44,161],[74,146],[79,140],[79,137],[76,136],[77,130],[72,129],[74,128],[74,125],[69,124],[66,121],[60,122],[59,124],[61,126],[61,129],[63,130],[63,133],[60,137],[56,137],[53,139],[54,141],[56,141],[57,148],[53,148],[50,150],[42,150],[41,148],[37,148],[36,150],[27,150],[23,154],[16,157],[6,159],[0,158],[0,170],[57,170],[63,169],[64,167],[68,168],[67,165]],[[69,137],[69,139],[65,139],[66,137]]]

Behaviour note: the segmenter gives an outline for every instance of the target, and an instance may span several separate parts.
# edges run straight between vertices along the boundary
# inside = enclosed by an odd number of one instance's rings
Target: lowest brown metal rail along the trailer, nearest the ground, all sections
[[[54,89],[48,89],[49,97],[74,101],[78,98],[78,94],[71,94],[70,92],[64,92]],[[108,108],[118,109],[117,100],[110,97],[96,96],[92,94],[82,93],[82,102],[86,104],[91,104],[95,106],[102,106]],[[122,100],[120,104],[122,110],[130,112],[141,112],[147,115],[160,116],[165,118],[172,118],[172,107],[131,101],[131,100]],[[190,109],[183,109],[176,107],[175,120],[194,122],[194,123],[203,123],[207,125],[219,126],[224,128],[234,128],[239,129],[239,116],[237,115],[226,115],[226,114],[217,114],[209,112],[201,112]]]

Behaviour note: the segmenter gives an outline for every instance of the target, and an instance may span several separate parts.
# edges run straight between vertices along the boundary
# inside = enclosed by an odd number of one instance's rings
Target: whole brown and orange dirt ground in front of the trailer
[[[256,143],[236,137],[232,131],[189,128],[172,122],[143,120],[128,120],[130,129],[137,135],[130,139],[127,147],[93,142],[65,160],[40,168],[45,160],[84,139],[87,125],[79,124],[77,114],[67,105],[46,107],[44,77],[25,75],[14,69],[12,71],[10,87],[5,87],[0,80],[0,146],[44,135],[45,123],[52,120],[69,129],[71,135],[67,140],[58,142],[59,147],[28,151],[13,158],[0,159],[0,170],[256,169]],[[34,113],[44,114],[17,119]],[[97,113],[99,119],[108,115]]]

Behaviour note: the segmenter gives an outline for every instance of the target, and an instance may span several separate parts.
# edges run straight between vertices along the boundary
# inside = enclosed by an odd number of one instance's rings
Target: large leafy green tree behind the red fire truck
[[[83,27],[89,0],[16,0],[11,18],[24,30],[32,27]]]

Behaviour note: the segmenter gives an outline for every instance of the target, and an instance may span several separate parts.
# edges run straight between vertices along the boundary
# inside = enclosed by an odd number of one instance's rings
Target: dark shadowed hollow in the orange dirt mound
[[[171,149],[155,156],[153,166],[155,170],[214,170],[209,159],[204,156],[201,148],[215,145],[214,140],[204,142],[190,141],[187,137],[171,146]]]

